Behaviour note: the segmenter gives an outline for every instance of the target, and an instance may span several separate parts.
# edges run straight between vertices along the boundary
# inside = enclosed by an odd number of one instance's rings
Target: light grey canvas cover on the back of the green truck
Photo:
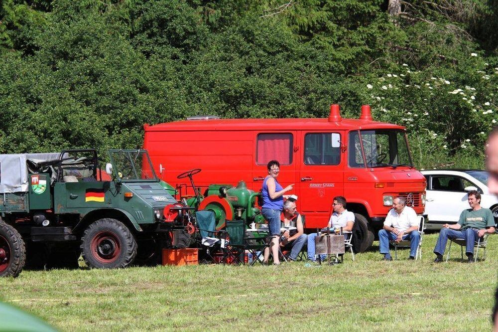
[[[36,163],[60,156],[60,153],[0,155],[0,193],[28,191],[28,160]]]

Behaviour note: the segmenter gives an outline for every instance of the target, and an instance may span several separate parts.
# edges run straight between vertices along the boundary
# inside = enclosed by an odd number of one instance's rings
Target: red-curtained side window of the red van
[[[256,164],[266,165],[277,160],[280,165],[292,164],[293,137],[290,133],[264,133],[257,135]]]

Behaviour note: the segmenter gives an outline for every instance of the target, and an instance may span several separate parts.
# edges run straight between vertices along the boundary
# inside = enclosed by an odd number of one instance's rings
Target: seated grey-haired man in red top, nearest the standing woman
[[[283,223],[284,225],[290,225],[291,222],[295,223],[297,229],[285,231],[281,236],[280,246],[282,250],[290,250],[288,258],[295,261],[303,249],[308,235],[304,234],[303,220],[296,211],[296,203],[294,200],[287,199],[283,203]]]

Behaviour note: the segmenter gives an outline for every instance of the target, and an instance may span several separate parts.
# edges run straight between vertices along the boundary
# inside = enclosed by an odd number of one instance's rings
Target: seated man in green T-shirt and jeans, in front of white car
[[[481,194],[471,190],[468,194],[470,209],[463,210],[460,220],[454,225],[444,224],[434,248],[435,263],[443,261],[443,254],[448,239],[465,239],[465,254],[469,263],[474,263],[474,243],[484,234],[495,232],[495,218],[490,209],[481,207]]]

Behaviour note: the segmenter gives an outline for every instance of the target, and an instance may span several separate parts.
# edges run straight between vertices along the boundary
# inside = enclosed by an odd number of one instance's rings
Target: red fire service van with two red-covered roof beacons
[[[365,232],[364,250],[395,196],[406,197],[418,214],[424,212],[426,180],[413,167],[406,129],[373,121],[368,105],[362,106],[360,119],[343,119],[339,105],[331,105],[328,119],[208,116],[144,128],[143,148],[172,186],[188,184],[177,174],[202,168],[195,177],[202,189],[244,180],[258,191],[267,162],[278,160],[278,181],[283,187],[294,183],[289,193],[298,196],[308,230],[325,226],[333,197],[345,196]]]

